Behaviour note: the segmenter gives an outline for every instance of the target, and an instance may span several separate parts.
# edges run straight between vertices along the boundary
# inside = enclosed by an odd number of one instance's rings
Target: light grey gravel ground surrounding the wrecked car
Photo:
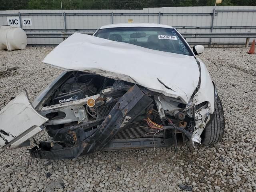
[[[31,100],[60,70],[41,60],[52,48],[0,50],[0,109],[26,89]],[[96,152],[73,160],[30,158],[26,148],[0,154],[2,191],[256,192],[256,55],[246,48],[212,48],[200,55],[224,106],[224,138],[214,146]],[[16,70],[6,71],[16,67]],[[46,139],[43,132],[36,136]],[[188,152],[187,152],[188,151]],[[199,168],[202,166],[204,169]],[[12,169],[9,173],[5,171]],[[206,175],[206,172],[207,175]]]

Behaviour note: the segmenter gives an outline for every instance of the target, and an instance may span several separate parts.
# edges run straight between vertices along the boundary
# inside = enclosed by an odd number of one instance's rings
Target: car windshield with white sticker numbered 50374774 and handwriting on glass
[[[164,52],[192,56],[192,52],[178,32],[172,28],[120,27],[100,29],[96,37]]]

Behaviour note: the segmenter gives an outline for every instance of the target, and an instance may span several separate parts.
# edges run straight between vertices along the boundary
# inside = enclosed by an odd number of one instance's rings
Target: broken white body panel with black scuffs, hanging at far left
[[[48,121],[28,100],[26,91],[20,93],[0,111],[0,147],[14,149],[34,136]]]

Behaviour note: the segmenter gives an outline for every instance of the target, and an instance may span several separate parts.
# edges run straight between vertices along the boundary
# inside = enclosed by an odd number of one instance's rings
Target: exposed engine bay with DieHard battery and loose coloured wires
[[[44,126],[53,142],[61,142],[60,148],[63,144],[71,147],[91,136],[132,86],[132,83],[96,74],[72,72],[44,102],[39,113],[49,119]],[[178,137],[183,142],[182,133],[164,130],[163,126],[174,125],[190,133],[194,131],[193,111],[184,111],[186,104],[139,88],[153,102],[113,139]]]

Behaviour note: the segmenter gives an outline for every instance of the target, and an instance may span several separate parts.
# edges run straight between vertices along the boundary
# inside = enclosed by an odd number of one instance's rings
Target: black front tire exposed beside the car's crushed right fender
[[[212,121],[208,122],[202,132],[202,144],[215,144],[222,140],[225,129],[224,111],[221,100],[218,96]]]

